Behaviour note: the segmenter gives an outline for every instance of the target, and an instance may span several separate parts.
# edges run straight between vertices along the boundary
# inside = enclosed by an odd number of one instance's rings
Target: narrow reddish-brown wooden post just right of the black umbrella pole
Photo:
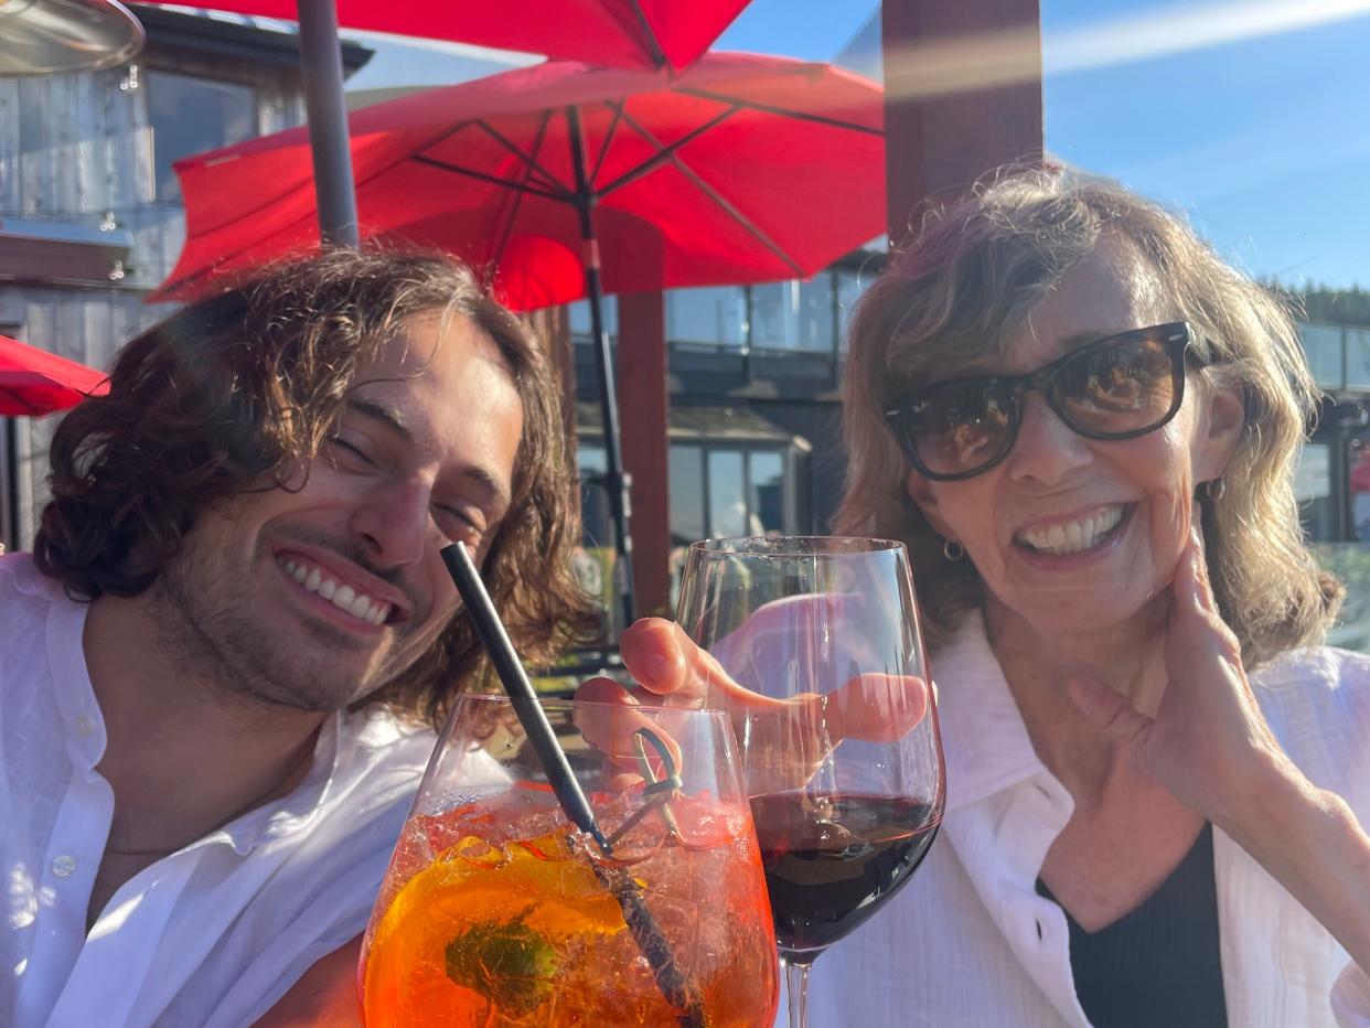
[[[623,470],[633,478],[633,592],[638,617],[671,617],[666,297],[618,297],[618,404]]]

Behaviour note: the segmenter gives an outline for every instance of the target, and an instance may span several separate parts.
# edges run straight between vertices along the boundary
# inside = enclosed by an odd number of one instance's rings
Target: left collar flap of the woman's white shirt
[[[947,809],[970,806],[1045,770],[1032,747],[981,613],[967,614],[932,661],[947,762]]]

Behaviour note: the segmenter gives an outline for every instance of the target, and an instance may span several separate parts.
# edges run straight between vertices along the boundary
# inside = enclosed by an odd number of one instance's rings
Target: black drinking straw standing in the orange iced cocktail
[[[562,810],[566,811],[571,824],[589,835],[606,857],[611,855],[611,847],[595,821],[595,811],[590,810],[589,800],[585,799],[585,794],[571,772],[566,751],[556,742],[556,733],[552,732],[552,725],[547,720],[547,711],[543,710],[543,705],[537,699],[533,683],[527,680],[522,661],[514,652],[514,644],[510,641],[508,632],[504,631],[500,615],[495,611],[495,604],[485,591],[480,572],[475,570],[471,551],[466,548],[464,543],[452,543],[443,548],[443,561],[447,563],[452,581],[456,583],[456,591],[462,593],[462,603],[471,615],[475,633],[490,655],[495,673],[508,694],[510,706],[514,707],[519,724],[523,725],[529,742],[533,743],[533,751],[543,765],[543,772],[556,795],[556,802],[562,805]],[[675,962],[670,943],[660,925],[656,924],[656,918],[652,917],[652,911],[647,909],[647,902],[643,899],[637,883],[627,872],[614,865],[595,864],[595,873],[618,901],[623,911],[623,921],[633,933],[633,939],[637,940],[643,955],[652,965],[656,986],[666,996],[666,1002],[681,1012],[681,1025],[684,1028],[704,1028],[708,1021],[699,992]]]

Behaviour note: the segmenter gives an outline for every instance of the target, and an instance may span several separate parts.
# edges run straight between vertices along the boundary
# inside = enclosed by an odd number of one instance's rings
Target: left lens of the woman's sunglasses
[[[984,382],[927,389],[908,411],[908,444],[922,470],[967,474],[997,461],[1012,441],[1012,397]]]

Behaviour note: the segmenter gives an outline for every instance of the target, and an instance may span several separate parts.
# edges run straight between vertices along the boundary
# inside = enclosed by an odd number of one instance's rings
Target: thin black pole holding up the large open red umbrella
[[[566,126],[571,141],[571,163],[575,167],[575,212],[581,219],[582,260],[585,263],[585,299],[590,308],[590,333],[595,339],[595,370],[599,373],[600,411],[604,422],[604,488],[608,489],[608,509],[614,518],[614,580],[623,611],[623,628],[633,624],[633,536],[629,522],[632,480],[623,474],[623,452],[619,447],[618,393],[614,389],[614,351],[604,330],[604,292],[600,286],[599,240],[595,237],[595,195],[585,171],[585,144],[581,138],[581,114],[574,106],[566,108]]]

